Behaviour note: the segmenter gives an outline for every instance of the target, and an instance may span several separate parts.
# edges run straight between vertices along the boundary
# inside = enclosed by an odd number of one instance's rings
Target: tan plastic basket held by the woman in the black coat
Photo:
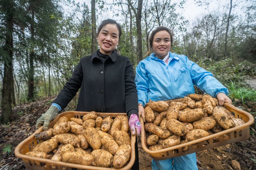
[[[59,120],[60,117],[67,117],[68,120],[70,118],[82,118],[83,115],[87,114],[89,112],[63,112],[59,114],[53,121],[50,122],[50,127],[53,126],[57,120]],[[97,113],[97,116],[100,116],[102,118],[110,116],[111,118],[115,118],[117,115],[126,115],[126,113]],[[42,132],[43,128],[39,128],[36,132],[34,132],[30,137],[26,138],[24,141],[22,141],[16,148],[15,148],[15,155],[16,157],[22,158],[25,166],[29,170],[51,170],[50,164],[55,164],[57,166],[56,169],[62,170],[62,167],[66,167],[68,170],[73,170],[73,168],[76,168],[78,170],[115,170],[115,168],[104,168],[104,167],[98,167],[98,166],[87,166],[87,165],[79,165],[79,164],[72,164],[72,163],[65,163],[60,161],[54,161],[50,159],[43,159],[43,158],[37,158],[37,157],[31,157],[25,155],[27,152],[31,151],[38,143],[35,138],[35,134]],[[135,161],[135,136],[131,137],[131,148],[132,152],[130,155],[130,160],[126,166],[124,166],[121,169],[118,170],[129,170]]]

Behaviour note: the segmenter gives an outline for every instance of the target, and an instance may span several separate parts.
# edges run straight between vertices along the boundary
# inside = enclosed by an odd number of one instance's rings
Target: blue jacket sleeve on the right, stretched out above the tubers
[[[188,59],[187,65],[190,69],[193,84],[202,91],[207,92],[212,97],[217,97],[217,94],[220,92],[228,95],[228,89],[215,79],[211,72],[206,71]]]

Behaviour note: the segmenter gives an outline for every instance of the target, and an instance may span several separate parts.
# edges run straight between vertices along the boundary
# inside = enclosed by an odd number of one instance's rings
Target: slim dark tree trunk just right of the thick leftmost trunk
[[[34,11],[33,7],[32,11],[32,18],[34,22]],[[34,41],[34,26],[31,23],[30,28],[31,40]],[[28,100],[34,100],[34,47],[31,47],[30,56],[29,56],[29,69],[28,69]]]

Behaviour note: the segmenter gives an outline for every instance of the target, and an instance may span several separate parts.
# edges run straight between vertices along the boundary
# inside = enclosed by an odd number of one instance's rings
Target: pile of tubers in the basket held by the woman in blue
[[[244,124],[210,95],[189,94],[182,102],[151,101],[145,107],[146,143],[151,151],[180,145]],[[223,140],[228,140],[228,134]],[[219,137],[213,138],[214,142]],[[197,148],[198,145],[192,145]],[[182,151],[187,151],[188,146]],[[177,151],[173,150],[173,153]]]

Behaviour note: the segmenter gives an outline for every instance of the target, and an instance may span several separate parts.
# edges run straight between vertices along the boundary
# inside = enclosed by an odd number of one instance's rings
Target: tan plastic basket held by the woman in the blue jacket
[[[171,101],[181,101],[181,99],[171,100]],[[167,102],[170,102],[170,101],[167,101]],[[144,149],[145,152],[149,153],[153,159],[164,160],[164,159],[179,157],[179,156],[194,153],[194,152],[203,151],[203,150],[214,148],[214,147],[227,145],[229,143],[235,143],[235,142],[247,140],[250,137],[249,126],[254,123],[254,117],[250,113],[242,111],[241,109],[236,108],[232,104],[224,103],[224,106],[227,109],[229,109],[229,111],[235,113],[236,118],[241,118],[246,123],[231,129],[227,129],[227,130],[194,140],[194,141],[190,141],[180,145],[161,149],[159,151],[151,151],[147,147],[144,122],[143,122],[143,119],[140,118],[140,123],[142,125],[142,130],[141,130],[142,148]],[[230,139],[224,140],[223,138],[224,134],[228,134],[230,136]],[[219,142],[213,141],[213,138],[215,137],[219,137]],[[207,142],[207,145],[205,145],[206,144],[205,141]],[[192,148],[193,144],[196,144],[197,148]],[[185,146],[188,146],[188,150],[182,151],[182,147],[185,147]]]

